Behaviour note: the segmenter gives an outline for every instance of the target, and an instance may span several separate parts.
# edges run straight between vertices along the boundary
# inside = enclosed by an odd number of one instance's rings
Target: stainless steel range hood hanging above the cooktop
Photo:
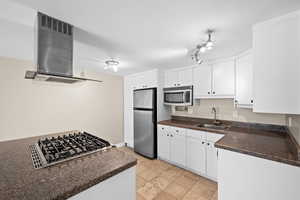
[[[43,13],[37,14],[37,71],[26,79],[76,83],[97,81],[73,76],[73,26]]]

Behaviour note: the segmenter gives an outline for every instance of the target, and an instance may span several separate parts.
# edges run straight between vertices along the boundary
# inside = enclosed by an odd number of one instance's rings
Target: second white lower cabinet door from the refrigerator
[[[170,137],[170,160],[179,166],[186,166],[185,134],[177,133],[172,130]]]

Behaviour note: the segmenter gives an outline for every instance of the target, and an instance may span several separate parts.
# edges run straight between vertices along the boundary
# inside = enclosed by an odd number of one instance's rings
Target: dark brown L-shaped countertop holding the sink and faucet
[[[300,166],[299,145],[295,143],[287,127],[232,121],[222,121],[228,126],[222,130],[198,127],[199,124],[209,122],[212,120],[173,117],[158,124],[224,134],[215,143],[217,148]]]

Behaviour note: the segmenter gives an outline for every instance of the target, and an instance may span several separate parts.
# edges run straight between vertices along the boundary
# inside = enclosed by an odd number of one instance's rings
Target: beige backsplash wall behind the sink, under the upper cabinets
[[[177,116],[190,116],[213,118],[212,107],[217,108],[217,117],[222,120],[256,122],[266,124],[286,124],[285,115],[280,114],[261,114],[254,113],[251,109],[235,108],[232,99],[201,99],[195,100],[194,106],[189,107],[188,111],[175,111],[172,114]]]

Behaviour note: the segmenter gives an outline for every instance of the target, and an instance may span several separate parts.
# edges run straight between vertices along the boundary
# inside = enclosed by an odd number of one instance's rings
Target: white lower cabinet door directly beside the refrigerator
[[[158,157],[165,160],[170,160],[170,136],[168,127],[157,126],[158,131]]]

